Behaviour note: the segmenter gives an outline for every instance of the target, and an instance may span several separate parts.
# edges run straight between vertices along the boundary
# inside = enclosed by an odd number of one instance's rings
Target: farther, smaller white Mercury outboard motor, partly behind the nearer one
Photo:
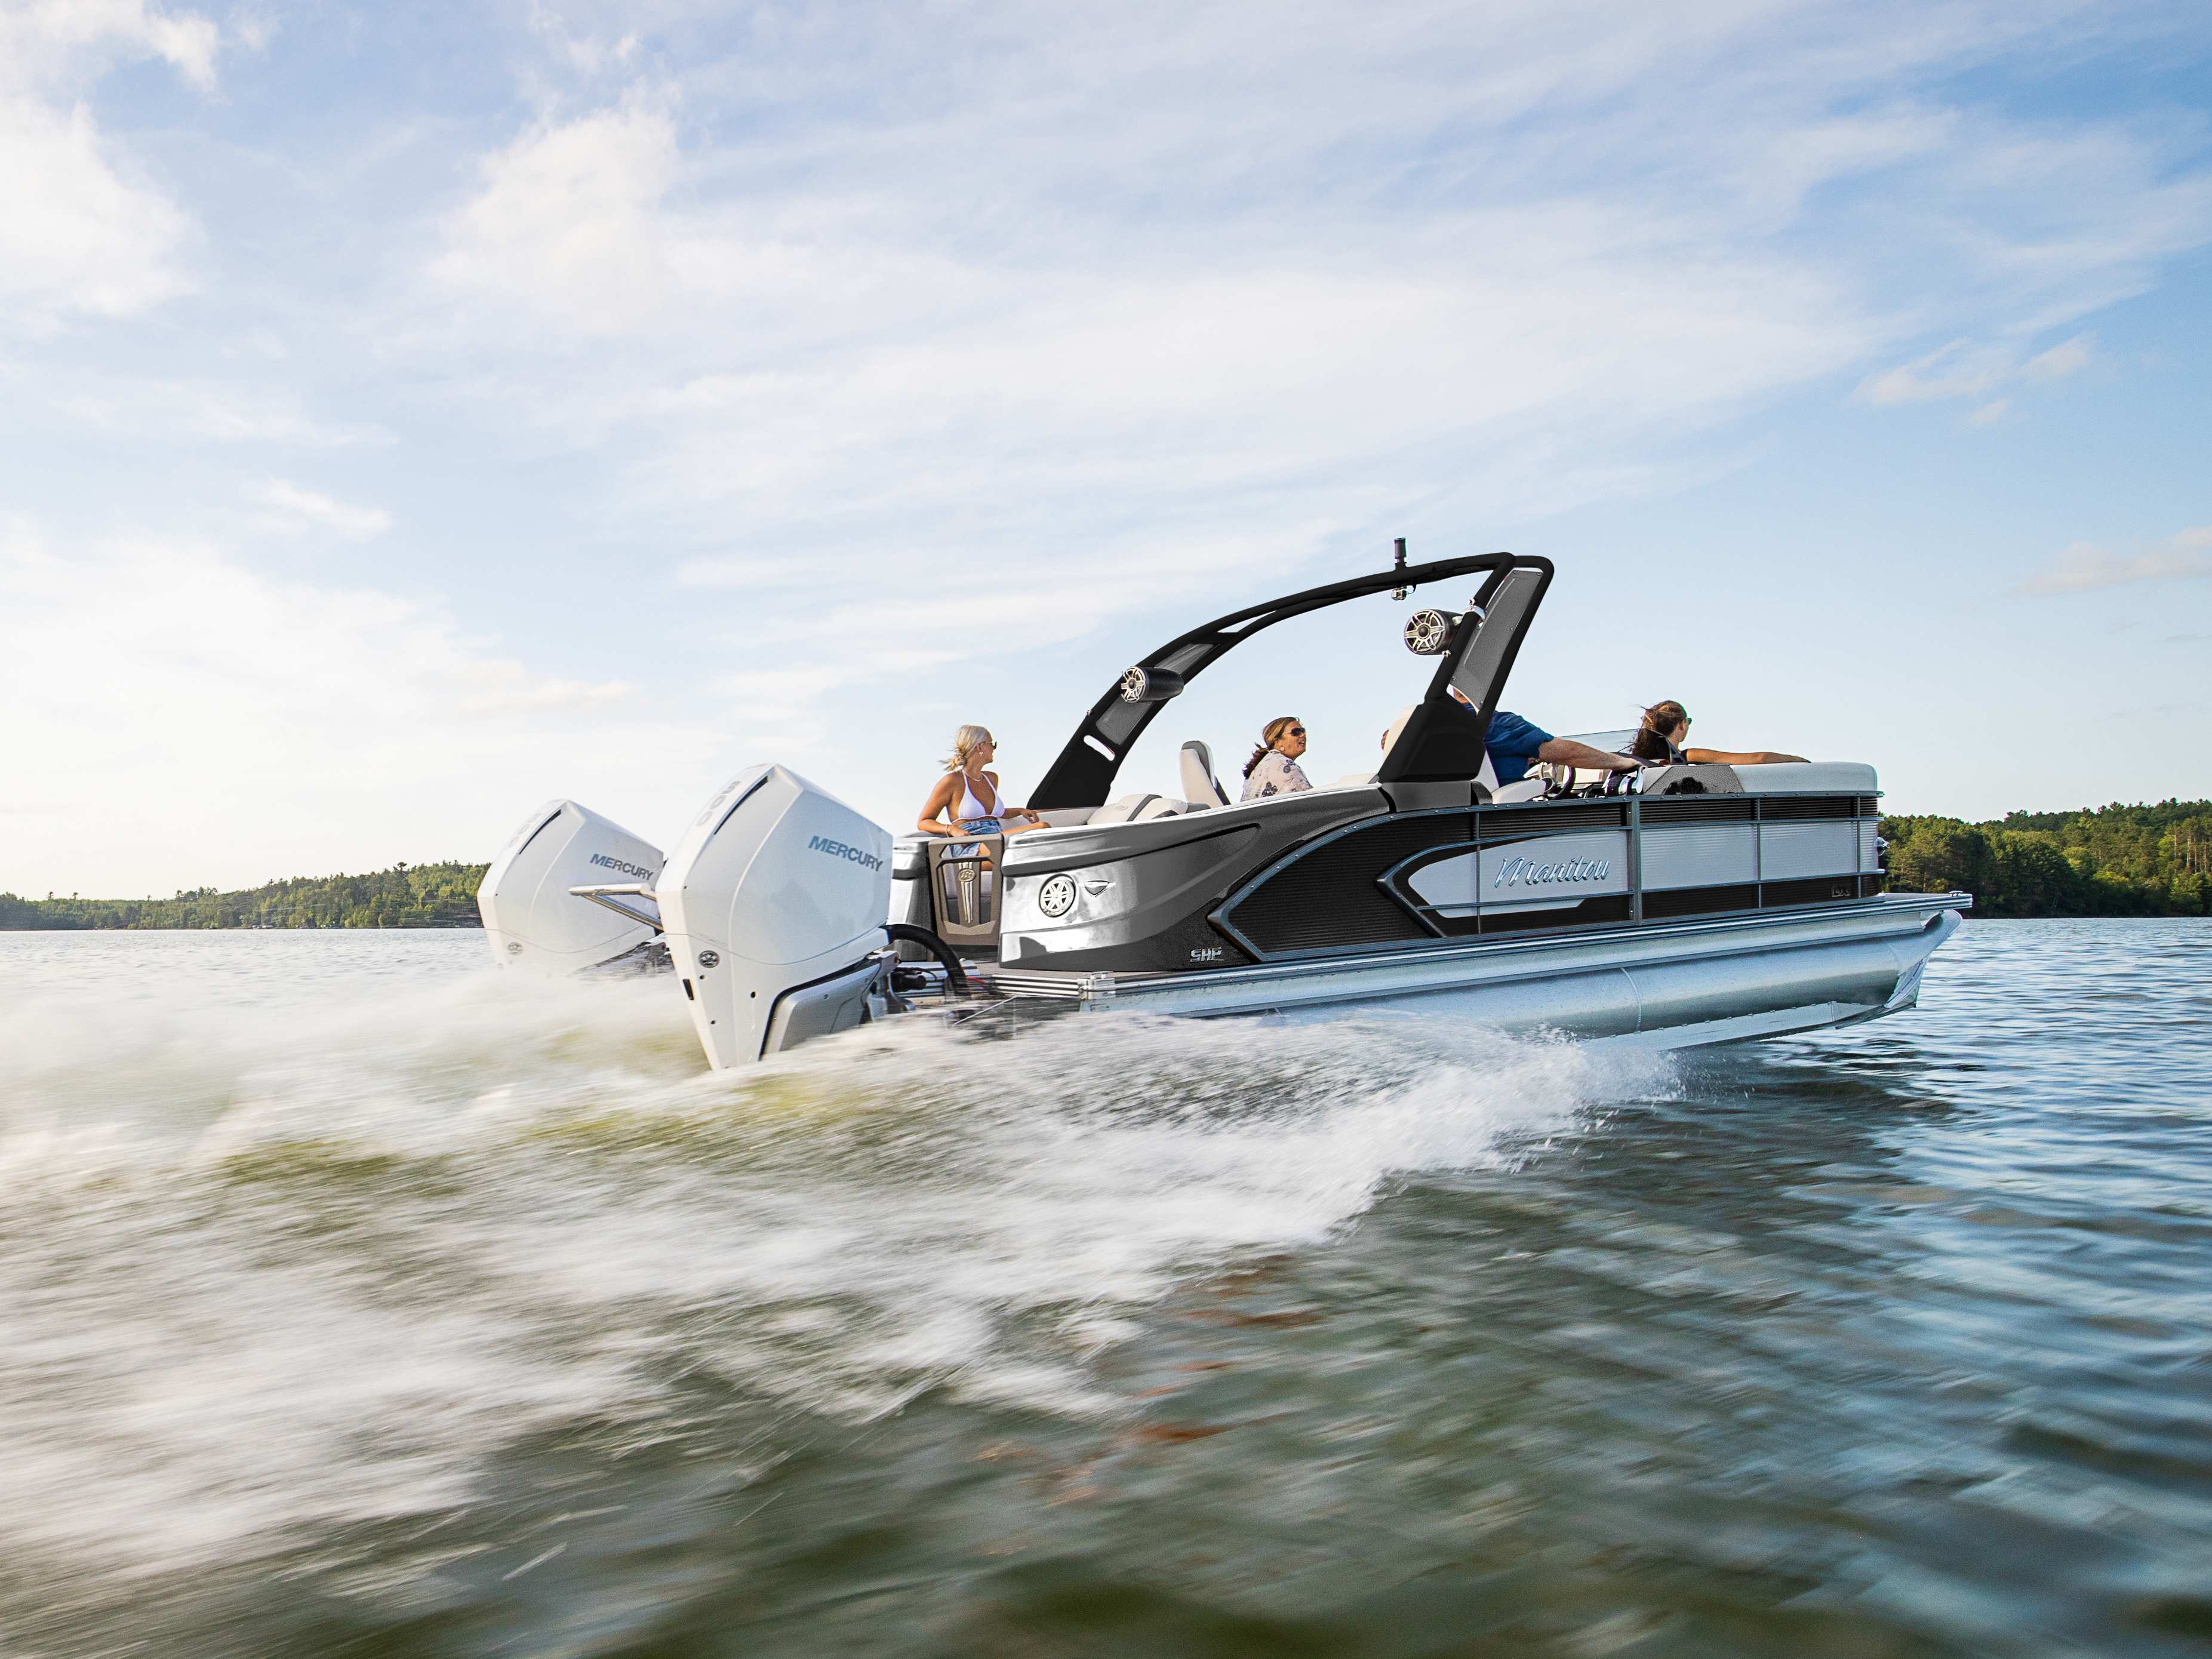
[[[522,821],[476,889],[491,949],[513,969],[560,978],[617,958],[655,953],[650,891],[661,849],[575,801],[546,801]],[[622,894],[595,902],[573,887]]]

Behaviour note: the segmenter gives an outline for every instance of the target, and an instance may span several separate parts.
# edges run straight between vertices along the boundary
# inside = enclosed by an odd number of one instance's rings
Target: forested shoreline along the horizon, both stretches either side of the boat
[[[2212,916],[2212,801],[1882,821],[1896,891],[1973,894],[1975,916]],[[0,931],[115,927],[482,927],[484,865],[392,865],[175,898],[18,898]]]

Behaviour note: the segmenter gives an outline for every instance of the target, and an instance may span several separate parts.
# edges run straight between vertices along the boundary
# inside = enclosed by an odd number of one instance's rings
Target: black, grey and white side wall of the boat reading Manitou
[[[1002,962],[1192,973],[1860,900],[1882,885],[1863,872],[1874,810],[1849,794],[1703,794],[1391,812],[1369,787],[1040,832],[1006,843]],[[1635,812],[1652,818],[1641,885]]]

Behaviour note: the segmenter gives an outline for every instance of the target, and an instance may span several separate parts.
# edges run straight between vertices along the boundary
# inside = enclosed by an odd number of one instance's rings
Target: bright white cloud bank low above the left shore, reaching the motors
[[[0,889],[484,856],[551,790],[681,823],[721,739],[633,701],[420,599],[274,582],[206,544],[64,553],[0,526],[9,794],[49,807],[4,836]]]

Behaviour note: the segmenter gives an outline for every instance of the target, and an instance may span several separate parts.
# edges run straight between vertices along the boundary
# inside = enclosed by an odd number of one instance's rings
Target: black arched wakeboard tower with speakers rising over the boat
[[[1429,679],[1427,695],[1413,708],[1391,752],[1383,757],[1380,772],[1376,772],[1378,783],[1473,779],[1482,770],[1482,741],[1489,734],[1506,675],[1513,672],[1520,641],[1551,586],[1551,560],[1469,553],[1458,560],[1405,564],[1405,544],[1398,546],[1400,564],[1389,571],[1230,611],[1144,657],[1091,706],[1084,723],[1075,728],[1075,737],[1066,741],[1060,759],[1037,783],[1029,805],[1040,812],[1106,805],[1124,757],[1135,748],[1144,728],[1152,723],[1152,717],[1192,679],[1263,628],[1347,599],[1365,599],[1369,593],[1405,597],[1422,584],[1451,582],[1482,571],[1482,586],[1464,613],[1431,611],[1409,619],[1407,644],[1418,655],[1436,655],[1442,661]],[[1413,622],[1422,617],[1429,619],[1433,644],[1416,644]],[[1453,688],[1467,697],[1464,706],[1453,699]]]

